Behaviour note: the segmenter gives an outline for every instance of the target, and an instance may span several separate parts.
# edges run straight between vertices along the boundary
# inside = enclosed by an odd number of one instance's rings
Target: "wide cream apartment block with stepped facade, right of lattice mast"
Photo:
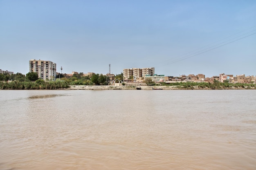
[[[123,70],[124,79],[128,79],[129,77],[133,76],[136,78],[145,77],[146,75],[153,76],[155,74],[155,68],[125,68]]]

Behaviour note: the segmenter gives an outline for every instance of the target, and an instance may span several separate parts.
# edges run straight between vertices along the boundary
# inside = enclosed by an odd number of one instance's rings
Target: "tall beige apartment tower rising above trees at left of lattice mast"
[[[56,79],[56,63],[44,60],[29,60],[29,72],[38,73],[38,77],[44,80]]]

